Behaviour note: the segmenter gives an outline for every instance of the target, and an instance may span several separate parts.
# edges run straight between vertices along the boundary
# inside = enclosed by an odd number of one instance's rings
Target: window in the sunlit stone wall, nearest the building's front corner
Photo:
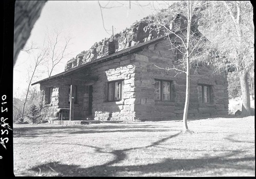
[[[120,101],[123,97],[124,80],[108,83],[108,101]]]

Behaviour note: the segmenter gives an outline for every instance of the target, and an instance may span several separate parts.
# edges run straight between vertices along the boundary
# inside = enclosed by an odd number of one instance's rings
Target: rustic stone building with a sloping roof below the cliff
[[[82,64],[83,56],[78,56],[68,62],[65,72],[32,84],[40,83],[44,120],[68,120],[70,107],[71,120],[154,121],[182,117],[186,75],[163,70],[177,66],[180,55],[170,50],[168,35],[117,52],[113,46],[108,41],[102,57]],[[198,66],[196,73],[191,68],[188,116],[228,114],[227,77],[212,72],[207,65]]]

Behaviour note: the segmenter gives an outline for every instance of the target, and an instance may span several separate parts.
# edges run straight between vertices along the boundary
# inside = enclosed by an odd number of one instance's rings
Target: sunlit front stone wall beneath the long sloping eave
[[[99,77],[96,82],[83,82],[75,80],[70,75],[73,84],[77,85],[77,104],[74,104],[74,120],[86,120],[88,117],[89,85],[93,87],[92,118],[95,120],[124,120],[134,121],[135,86],[134,72],[136,65],[134,55],[127,55],[110,61],[94,64],[90,68],[80,70],[76,76],[86,79],[90,76]],[[46,81],[41,83],[43,94],[42,114],[45,120],[57,120],[57,108],[69,108],[68,91],[70,77]],[[107,101],[107,85],[109,81],[124,80],[123,97],[121,101]],[[45,104],[45,90],[47,87],[58,87],[58,101]],[[50,111],[50,113],[49,113]]]

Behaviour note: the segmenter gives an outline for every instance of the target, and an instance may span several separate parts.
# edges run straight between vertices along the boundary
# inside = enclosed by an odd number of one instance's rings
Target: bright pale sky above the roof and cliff
[[[173,3],[167,2],[168,4]],[[129,28],[136,20],[140,20],[152,12],[156,13],[154,9],[167,8],[166,2],[163,1],[131,1],[131,9],[129,9],[129,1],[100,1],[100,3],[101,6],[115,7],[102,9],[105,27],[111,30],[113,26],[114,34]],[[135,5],[137,3],[141,6]],[[52,28],[62,29],[64,34],[69,34],[72,37],[72,44],[68,49],[69,57],[57,66],[52,76],[63,72],[66,62],[72,57],[84,50],[89,50],[95,42],[110,37],[103,28],[101,10],[97,1],[48,1],[32,29],[27,45],[33,41],[37,46],[41,46],[47,29],[51,31]],[[13,69],[14,94],[21,94],[27,88],[28,72],[26,69],[32,64],[31,60],[31,56],[26,52],[19,53]],[[48,77],[46,73],[37,75],[39,77],[33,82]]]

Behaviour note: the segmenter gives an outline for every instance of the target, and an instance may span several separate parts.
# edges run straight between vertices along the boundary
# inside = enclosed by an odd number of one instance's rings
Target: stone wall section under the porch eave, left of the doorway
[[[73,85],[77,86],[77,103],[74,104],[75,120],[85,120],[88,115],[89,107],[89,85],[84,81],[73,80]],[[69,108],[69,88],[70,77],[54,79],[40,84],[41,88],[41,114],[44,120],[58,120],[58,108]],[[53,87],[51,103],[46,103],[48,98],[47,88]]]

